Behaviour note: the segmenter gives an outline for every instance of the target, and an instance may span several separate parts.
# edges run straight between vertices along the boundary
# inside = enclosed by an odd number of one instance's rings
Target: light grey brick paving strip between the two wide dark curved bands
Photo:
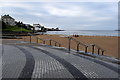
[[[70,72],[54,58],[32,48],[26,47],[35,58],[32,78],[73,78]]]

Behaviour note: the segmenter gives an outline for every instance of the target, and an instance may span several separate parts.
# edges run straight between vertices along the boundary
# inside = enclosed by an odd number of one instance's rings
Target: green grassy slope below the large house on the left
[[[4,26],[3,26],[4,27]],[[2,29],[2,31],[10,31],[10,32],[31,32],[31,30],[27,30],[25,28],[20,28],[16,26],[6,26],[5,29]]]

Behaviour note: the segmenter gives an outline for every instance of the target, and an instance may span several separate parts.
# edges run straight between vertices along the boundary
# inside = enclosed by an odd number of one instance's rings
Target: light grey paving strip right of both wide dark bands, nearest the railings
[[[46,47],[38,47],[38,48],[49,51],[54,55],[64,58],[66,61],[70,62],[77,69],[79,69],[88,78],[118,78],[118,73],[105,66],[100,65],[99,63],[95,63],[94,61],[90,61],[51,48],[46,48]]]

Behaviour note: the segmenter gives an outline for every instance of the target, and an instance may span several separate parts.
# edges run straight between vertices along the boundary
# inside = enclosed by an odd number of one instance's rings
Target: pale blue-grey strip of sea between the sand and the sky
[[[120,31],[116,30],[65,30],[47,31],[45,34],[59,35],[89,35],[89,36],[120,36]]]

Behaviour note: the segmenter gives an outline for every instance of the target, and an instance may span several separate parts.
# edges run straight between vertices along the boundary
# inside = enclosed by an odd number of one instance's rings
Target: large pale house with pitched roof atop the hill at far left
[[[1,19],[4,23],[8,24],[8,25],[11,25],[11,26],[14,26],[16,25],[15,24],[15,19],[12,18],[11,16],[9,15],[4,15],[4,16],[1,16]]]

